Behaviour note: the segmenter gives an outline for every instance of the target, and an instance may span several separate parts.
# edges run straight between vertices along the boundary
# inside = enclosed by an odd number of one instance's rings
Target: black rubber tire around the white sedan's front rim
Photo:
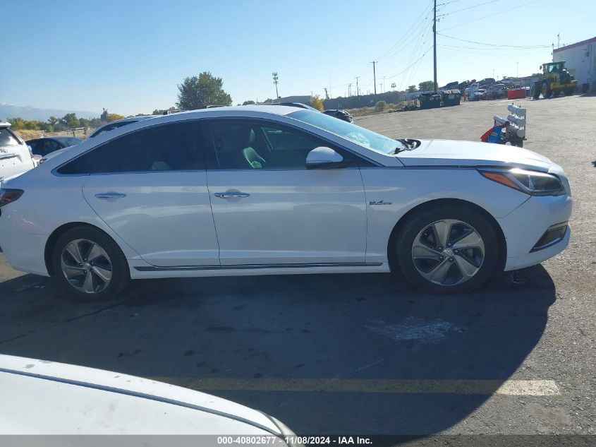
[[[442,220],[458,220],[469,225],[482,238],[485,253],[476,273],[464,282],[439,285],[427,280],[415,266],[413,259],[413,243],[418,234],[427,229],[433,222]],[[451,230],[450,230],[451,231]],[[396,259],[403,275],[416,287],[435,293],[456,293],[463,290],[473,290],[485,284],[496,273],[499,264],[499,242],[497,233],[491,222],[478,212],[478,209],[465,203],[443,203],[422,208],[419,213],[408,218],[401,226],[396,237]],[[438,252],[437,252],[438,254]],[[454,261],[456,255],[451,256]],[[460,263],[463,256],[459,255],[456,263]],[[449,259],[446,259],[449,261]],[[434,261],[438,262],[438,261]],[[448,266],[449,264],[445,264]],[[458,264],[459,265],[459,264]],[[458,267],[456,267],[458,268]],[[459,269],[461,270],[461,269]],[[462,270],[463,271],[463,270]]]

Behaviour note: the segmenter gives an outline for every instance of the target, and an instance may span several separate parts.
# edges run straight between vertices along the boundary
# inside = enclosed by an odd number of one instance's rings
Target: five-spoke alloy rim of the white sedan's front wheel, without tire
[[[485,258],[480,233],[461,220],[444,219],[422,229],[412,244],[412,261],[418,273],[437,285],[469,281]]]

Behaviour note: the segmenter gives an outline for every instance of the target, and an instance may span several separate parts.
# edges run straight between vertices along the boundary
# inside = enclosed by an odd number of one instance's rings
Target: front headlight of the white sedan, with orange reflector
[[[527,169],[478,169],[482,176],[532,196],[561,196],[565,189],[559,177]]]

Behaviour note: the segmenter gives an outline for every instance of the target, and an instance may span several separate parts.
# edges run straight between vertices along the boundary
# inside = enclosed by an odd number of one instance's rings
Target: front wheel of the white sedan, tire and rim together
[[[443,204],[413,215],[396,239],[403,275],[430,292],[460,292],[484,284],[499,260],[491,223],[468,205]]]

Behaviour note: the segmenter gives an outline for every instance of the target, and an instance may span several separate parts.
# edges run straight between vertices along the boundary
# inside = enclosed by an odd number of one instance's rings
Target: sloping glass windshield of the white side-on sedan
[[[346,140],[349,140],[352,143],[356,143],[382,154],[393,154],[398,149],[406,148],[403,143],[400,143],[393,138],[369,131],[363,127],[348,123],[348,121],[329,117],[329,115],[320,112],[300,110],[288,114],[288,117],[304,121],[305,123],[312,124],[312,126],[317,126],[325,131],[335,133],[337,136],[346,138]]]

